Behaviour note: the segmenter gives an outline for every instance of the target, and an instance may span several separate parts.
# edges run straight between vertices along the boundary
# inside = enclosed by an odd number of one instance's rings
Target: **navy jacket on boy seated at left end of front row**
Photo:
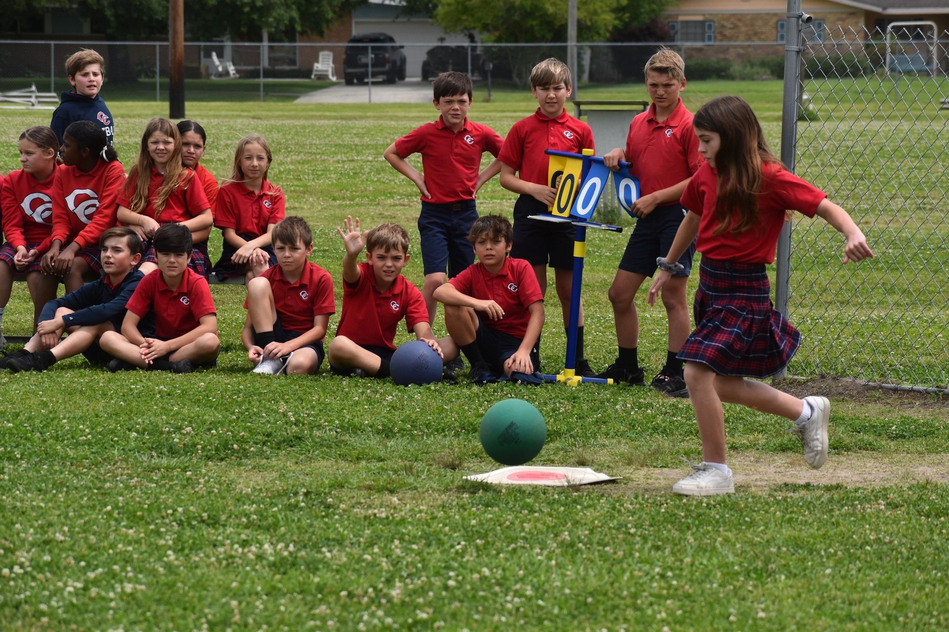
[[[66,329],[69,327],[86,325],[98,325],[108,320],[117,332],[121,332],[121,321],[125,317],[125,303],[132,298],[132,293],[139,286],[139,281],[144,277],[138,270],[132,270],[121,283],[110,290],[105,284],[105,275],[100,280],[85,283],[75,292],[71,292],[65,297],[53,298],[43,306],[40,313],[40,322],[52,320],[56,316],[56,310],[60,307],[66,307],[72,310],[72,314],[63,316]]]

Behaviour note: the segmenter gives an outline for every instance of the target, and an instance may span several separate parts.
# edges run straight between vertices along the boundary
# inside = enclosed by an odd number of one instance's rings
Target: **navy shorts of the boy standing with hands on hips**
[[[474,200],[454,204],[421,203],[419,236],[423,274],[458,273],[474,263],[474,247],[468,241],[468,231],[477,219]]]

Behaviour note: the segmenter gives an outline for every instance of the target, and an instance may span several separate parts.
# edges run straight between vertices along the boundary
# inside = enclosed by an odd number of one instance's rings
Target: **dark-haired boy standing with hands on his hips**
[[[468,230],[477,219],[474,197],[501,170],[497,154],[504,139],[487,125],[468,120],[472,81],[461,72],[443,72],[432,83],[435,109],[441,115],[389,145],[383,154],[397,172],[421,192],[419,237],[425,282],[421,287],[430,323],[435,322],[435,290],[445,282],[445,266],[455,277],[474,263]],[[495,159],[483,171],[481,154]],[[421,153],[422,172],[405,161]]]

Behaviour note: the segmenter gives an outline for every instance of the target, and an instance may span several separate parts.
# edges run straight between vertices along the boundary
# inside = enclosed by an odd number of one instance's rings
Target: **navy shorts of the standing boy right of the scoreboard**
[[[652,277],[658,269],[656,259],[665,257],[679,232],[679,224],[685,217],[685,209],[678,204],[665,207],[656,207],[651,213],[636,220],[633,234],[629,236],[629,243],[623,252],[620,269],[633,274]],[[696,243],[689,244],[682,256],[679,257],[685,269],[677,272],[673,277],[688,277],[692,272],[692,258],[696,254]]]

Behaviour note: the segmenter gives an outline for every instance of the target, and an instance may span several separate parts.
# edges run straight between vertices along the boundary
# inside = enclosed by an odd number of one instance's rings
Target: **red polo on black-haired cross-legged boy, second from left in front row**
[[[197,327],[201,316],[216,314],[208,281],[191,268],[185,268],[177,290],[165,283],[161,270],[153,270],[139,281],[125,305],[129,312],[144,318],[155,312],[155,335],[172,340]]]

